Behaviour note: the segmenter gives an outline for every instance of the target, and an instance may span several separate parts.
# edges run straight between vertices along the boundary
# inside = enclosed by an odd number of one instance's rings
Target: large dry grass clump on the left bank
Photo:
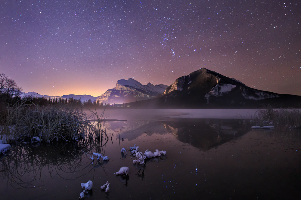
[[[16,104],[0,111],[0,139],[6,143],[29,138],[44,142],[78,140],[92,129],[80,108]]]

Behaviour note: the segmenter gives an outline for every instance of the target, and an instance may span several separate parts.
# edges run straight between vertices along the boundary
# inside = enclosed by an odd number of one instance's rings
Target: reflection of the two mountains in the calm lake
[[[171,133],[177,140],[206,151],[246,134],[250,130],[250,124],[242,119],[177,118],[172,121],[107,122],[106,128],[113,132],[120,132],[120,138],[129,141],[135,140],[144,133],[148,136],[153,133]]]

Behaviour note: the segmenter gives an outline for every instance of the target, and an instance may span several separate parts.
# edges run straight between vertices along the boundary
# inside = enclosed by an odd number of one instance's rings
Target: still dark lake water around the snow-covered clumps
[[[226,113],[229,110],[223,112]],[[299,199],[300,130],[251,130],[248,114],[191,117],[191,111],[105,111],[107,136],[93,145],[17,145],[0,158],[0,199]],[[137,112],[137,111],[135,111]],[[197,111],[193,111],[197,112]],[[253,113],[252,113],[253,114]],[[110,116],[109,116],[110,115]],[[212,113],[209,115],[212,115]],[[190,116],[190,117],[187,117]],[[229,119],[232,118],[232,119]],[[88,139],[87,139],[88,140]],[[166,155],[134,165],[129,147]],[[121,149],[127,150],[123,156]],[[101,153],[109,161],[92,163]],[[127,166],[127,177],[116,176]],[[110,183],[105,193],[100,186]]]

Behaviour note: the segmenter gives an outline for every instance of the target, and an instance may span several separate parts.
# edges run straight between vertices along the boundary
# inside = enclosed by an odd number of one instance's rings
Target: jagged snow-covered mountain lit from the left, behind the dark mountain
[[[97,100],[102,101],[103,104],[121,104],[129,103],[133,101],[146,100],[164,92],[167,85],[153,85],[148,83],[142,85],[135,79],[129,78],[129,80],[120,79],[116,83],[116,87],[108,89],[104,94],[97,97]]]

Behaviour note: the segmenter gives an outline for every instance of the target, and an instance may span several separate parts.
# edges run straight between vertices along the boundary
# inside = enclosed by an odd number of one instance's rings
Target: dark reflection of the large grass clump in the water
[[[13,146],[8,156],[1,159],[0,170],[3,179],[14,188],[31,188],[46,173],[50,178],[69,176],[79,171],[82,165],[83,143],[28,145],[19,143]],[[45,170],[46,169],[46,170]]]

